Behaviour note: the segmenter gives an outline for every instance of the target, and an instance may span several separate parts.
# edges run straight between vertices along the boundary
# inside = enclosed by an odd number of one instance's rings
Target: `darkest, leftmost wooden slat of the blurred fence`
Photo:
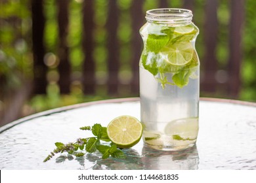
[[[33,92],[46,93],[47,66],[43,63],[45,46],[43,44],[45,16],[43,0],[32,0],[32,44],[33,44]]]

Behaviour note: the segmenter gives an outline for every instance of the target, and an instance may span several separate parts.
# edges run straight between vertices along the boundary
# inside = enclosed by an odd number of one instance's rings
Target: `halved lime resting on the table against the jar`
[[[119,148],[131,148],[140,141],[142,124],[133,116],[119,116],[107,127],[108,138]]]

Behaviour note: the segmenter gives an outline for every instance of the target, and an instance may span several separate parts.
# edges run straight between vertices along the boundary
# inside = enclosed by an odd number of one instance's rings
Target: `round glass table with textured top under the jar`
[[[141,140],[124,150],[126,159],[101,159],[96,152],[80,158],[63,153],[43,163],[55,142],[89,137],[79,127],[106,126],[123,114],[139,119],[139,98],[56,108],[0,127],[0,169],[256,169],[256,103],[213,98],[200,99],[198,141],[187,150],[158,151]]]

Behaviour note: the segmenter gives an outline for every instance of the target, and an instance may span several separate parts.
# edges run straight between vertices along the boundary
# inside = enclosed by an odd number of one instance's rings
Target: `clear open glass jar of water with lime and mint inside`
[[[189,148],[199,129],[199,29],[186,9],[148,10],[146,20],[139,64],[144,143],[160,150]]]

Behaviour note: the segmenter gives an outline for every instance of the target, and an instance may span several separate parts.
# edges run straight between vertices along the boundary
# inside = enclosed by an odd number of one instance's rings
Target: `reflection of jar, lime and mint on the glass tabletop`
[[[74,158],[62,155],[56,158],[56,163],[66,160],[78,161],[79,169],[95,170],[129,170],[129,169],[172,169],[172,170],[196,170],[198,169],[199,156],[196,145],[182,151],[166,152],[143,146],[141,152],[133,148],[123,150],[127,158],[102,159],[100,153],[87,154],[84,157]]]

